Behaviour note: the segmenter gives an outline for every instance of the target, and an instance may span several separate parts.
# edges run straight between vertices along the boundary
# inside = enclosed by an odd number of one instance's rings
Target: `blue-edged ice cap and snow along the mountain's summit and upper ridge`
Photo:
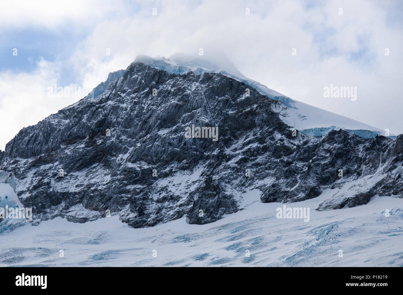
[[[358,122],[351,118],[334,114],[303,102],[292,100],[291,98],[269,89],[266,85],[263,85],[257,81],[253,81],[245,77],[238,69],[228,60],[225,56],[216,56],[214,60],[207,60],[203,56],[191,56],[189,54],[174,54],[169,58],[158,57],[152,58],[150,56],[137,56],[134,62],[142,62],[148,64],[156,69],[166,71],[167,73],[173,73],[177,75],[183,75],[190,71],[196,75],[202,75],[205,72],[208,73],[220,73],[226,75],[237,81],[241,81],[247,85],[252,86],[260,93],[273,100],[280,100],[285,104],[278,109],[283,120],[290,126],[295,127],[302,133],[307,135],[322,136],[329,133],[331,130],[343,129],[351,133],[355,133],[364,138],[376,137],[376,135],[384,135],[384,130]],[[89,96],[96,97],[100,95],[106,86],[117,77],[123,76],[125,70],[119,70],[110,73],[108,79],[98,85],[90,93]],[[396,139],[395,135],[389,135],[393,139]]]

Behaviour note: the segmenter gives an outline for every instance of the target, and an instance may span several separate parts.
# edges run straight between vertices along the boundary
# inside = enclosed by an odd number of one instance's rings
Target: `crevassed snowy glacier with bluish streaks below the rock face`
[[[309,222],[278,219],[284,204],[253,202],[249,193],[245,210],[204,225],[181,218],[133,229],[116,215],[25,224],[2,235],[0,266],[403,266],[402,200],[374,197],[364,206],[314,210],[333,193],[287,204],[310,207]]]

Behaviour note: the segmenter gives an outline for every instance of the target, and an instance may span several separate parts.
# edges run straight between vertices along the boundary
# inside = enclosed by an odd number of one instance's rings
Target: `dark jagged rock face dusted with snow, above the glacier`
[[[280,104],[219,73],[175,75],[136,62],[100,96],[22,129],[0,170],[35,222],[86,222],[110,210],[133,227],[182,216],[204,224],[242,209],[253,189],[261,202],[331,189],[318,210],[403,196],[403,135],[293,133]],[[218,127],[218,140],[187,138],[192,125]]]

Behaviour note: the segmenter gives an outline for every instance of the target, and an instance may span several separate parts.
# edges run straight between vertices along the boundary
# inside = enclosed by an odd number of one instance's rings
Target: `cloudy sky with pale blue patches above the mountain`
[[[47,87],[79,86],[83,97],[138,54],[199,48],[224,52],[245,76],[295,100],[403,133],[402,7],[359,0],[7,2],[0,11],[0,123],[7,126],[0,149],[21,128],[78,100],[50,98]],[[324,99],[330,83],[357,86],[357,101]]]

